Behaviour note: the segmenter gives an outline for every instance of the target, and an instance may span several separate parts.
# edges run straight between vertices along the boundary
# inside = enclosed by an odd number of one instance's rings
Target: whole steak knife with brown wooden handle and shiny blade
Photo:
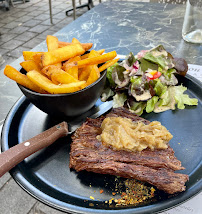
[[[31,154],[50,146],[57,139],[72,134],[79,128],[87,117],[97,118],[113,106],[113,101],[107,101],[95,106],[72,121],[59,123],[35,137],[17,144],[0,154],[0,177]]]

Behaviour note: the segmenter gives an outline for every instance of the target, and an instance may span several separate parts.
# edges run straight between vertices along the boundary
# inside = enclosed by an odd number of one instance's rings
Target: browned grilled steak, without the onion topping
[[[91,171],[124,178],[135,178],[148,182],[169,194],[185,190],[188,175],[175,173],[184,169],[174,156],[173,149],[129,152],[113,150],[104,146],[96,136],[101,134],[101,123],[105,117],[127,117],[148,124],[149,121],[129,112],[125,108],[113,109],[106,116],[87,121],[72,136],[70,168],[76,171]]]

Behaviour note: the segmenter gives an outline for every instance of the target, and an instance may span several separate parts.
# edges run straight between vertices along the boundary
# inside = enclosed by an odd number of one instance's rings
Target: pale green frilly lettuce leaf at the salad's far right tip
[[[186,87],[180,85],[175,86],[175,100],[179,109],[184,109],[186,105],[198,105],[196,98],[190,98],[188,94],[183,94],[187,90]]]

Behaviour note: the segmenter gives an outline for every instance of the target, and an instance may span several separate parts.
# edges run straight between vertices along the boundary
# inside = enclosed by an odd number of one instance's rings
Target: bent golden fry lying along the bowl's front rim
[[[85,81],[78,81],[69,84],[56,85],[51,82],[47,77],[40,74],[38,71],[30,71],[27,77],[39,87],[48,91],[51,94],[72,93],[78,91],[80,87],[85,84]]]

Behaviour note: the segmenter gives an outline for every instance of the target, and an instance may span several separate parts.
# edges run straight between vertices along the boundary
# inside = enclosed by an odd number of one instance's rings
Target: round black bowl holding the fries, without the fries
[[[107,70],[103,71],[96,82],[74,93],[40,94],[20,84],[18,86],[29,101],[43,112],[54,117],[74,117],[94,106],[104,88],[106,73]]]

